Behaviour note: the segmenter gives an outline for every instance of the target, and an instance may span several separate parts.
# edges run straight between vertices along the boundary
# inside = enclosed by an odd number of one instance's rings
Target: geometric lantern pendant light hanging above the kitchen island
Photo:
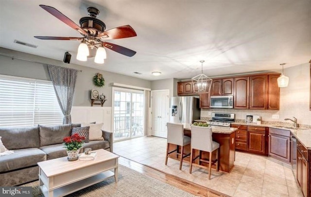
[[[201,62],[201,74],[191,78],[192,87],[194,89],[194,92],[208,93],[213,80],[209,78],[207,75],[203,74],[204,60],[201,60],[200,62]]]

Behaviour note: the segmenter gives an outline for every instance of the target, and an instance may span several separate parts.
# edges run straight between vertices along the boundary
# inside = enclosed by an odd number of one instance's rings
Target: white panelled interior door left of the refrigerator
[[[170,90],[151,91],[152,104],[152,132],[151,135],[167,138],[167,126],[169,121]]]

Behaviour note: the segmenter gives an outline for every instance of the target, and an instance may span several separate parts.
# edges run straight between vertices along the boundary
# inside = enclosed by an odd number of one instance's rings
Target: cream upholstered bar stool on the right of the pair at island
[[[199,150],[199,155],[193,158],[193,150]],[[218,171],[218,149],[219,143],[212,140],[211,127],[194,126],[191,125],[191,151],[190,151],[190,174],[192,171],[192,165],[207,169],[207,166],[200,165],[200,162],[208,163],[208,180],[210,180],[211,165],[216,165],[216,171]],[[216,150],[216,159],[212,161],[212,153]],[[209,160],[201,159],[201,151],[209,153]],[[193,163],[194,160],[199,158],[199,164]]]

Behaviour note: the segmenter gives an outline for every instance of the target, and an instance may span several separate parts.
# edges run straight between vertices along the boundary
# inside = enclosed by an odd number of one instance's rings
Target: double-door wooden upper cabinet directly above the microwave
[[[233,78],[213,79],[210,87],[211,96],[233,95]]]

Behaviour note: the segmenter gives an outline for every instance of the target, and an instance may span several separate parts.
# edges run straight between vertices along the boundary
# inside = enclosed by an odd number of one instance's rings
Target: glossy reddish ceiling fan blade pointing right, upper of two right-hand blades
[[[111,40],[111,39],[120,39],[125,37],[133,37],[137,36],[136,32],[130,25],[124,25],[120,27],[116,27],[113,29],[109,29],[99,34],[97,37],[99,39]]]

